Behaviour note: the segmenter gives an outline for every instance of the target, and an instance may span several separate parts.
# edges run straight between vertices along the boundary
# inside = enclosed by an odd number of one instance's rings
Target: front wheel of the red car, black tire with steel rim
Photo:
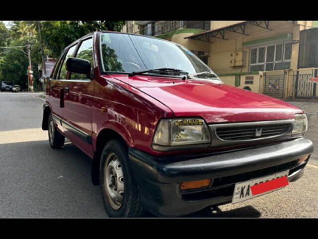
[[[112,185],[107,186],[107,184]],[[131,218],[146,215],[147,212],[141,205],[137,184],[132,175],[128,148],[122,140],[110,140],[101,153],[100,185],[109,217]],[[114,194],[119,201],[114,199]]]

